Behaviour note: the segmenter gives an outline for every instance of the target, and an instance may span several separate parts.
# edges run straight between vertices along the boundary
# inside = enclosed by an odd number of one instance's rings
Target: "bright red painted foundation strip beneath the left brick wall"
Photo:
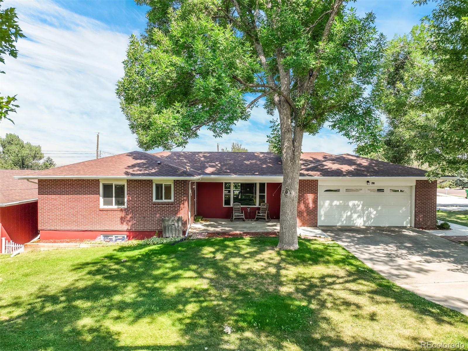
[[[146,239],[153,237],[154,231],[40,231],[41,240],[51,239],[90,239],[94,240],[101,235],[122,235],[126,234],[127,239]],[[157,232],[158,236],[162,232]]]

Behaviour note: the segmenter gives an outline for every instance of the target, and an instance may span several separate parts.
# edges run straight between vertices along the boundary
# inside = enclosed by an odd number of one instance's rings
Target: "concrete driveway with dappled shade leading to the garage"
[[[402,227],[320,227],[372,269],[468,315],[468,246]]]

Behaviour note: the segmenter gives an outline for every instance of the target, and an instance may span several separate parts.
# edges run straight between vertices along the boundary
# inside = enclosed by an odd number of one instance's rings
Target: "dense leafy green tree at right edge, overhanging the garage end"
[[[436,4],[389,42],[373,89],[388,122],[378,157],[434,177],[468,172],[468,1]]]

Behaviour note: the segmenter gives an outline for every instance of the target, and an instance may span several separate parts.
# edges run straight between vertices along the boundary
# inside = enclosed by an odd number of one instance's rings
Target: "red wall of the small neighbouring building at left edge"
[[[37,202],[0,207],[0,238],[24,244],[37,237]]]

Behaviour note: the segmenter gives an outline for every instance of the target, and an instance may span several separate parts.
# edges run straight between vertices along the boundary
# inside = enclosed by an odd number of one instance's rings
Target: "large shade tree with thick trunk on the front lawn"
[[[278,247],[296,249],[304,133],[327,124],[370,149],[378,139],[366,91],[385,43],[374,15],[344,0],[137,2],[151,7],[148,26],[130,39],[117,95],[139,146],[183,147],[203,127],[219,137],[264,101],[279,116]]]

